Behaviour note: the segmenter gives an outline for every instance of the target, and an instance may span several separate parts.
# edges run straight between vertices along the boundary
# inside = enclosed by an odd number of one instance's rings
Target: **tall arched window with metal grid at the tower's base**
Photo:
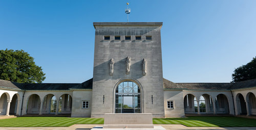
[[[115,113],[141,113],[141,89],[135,82],[123,81],[115,89]]]

